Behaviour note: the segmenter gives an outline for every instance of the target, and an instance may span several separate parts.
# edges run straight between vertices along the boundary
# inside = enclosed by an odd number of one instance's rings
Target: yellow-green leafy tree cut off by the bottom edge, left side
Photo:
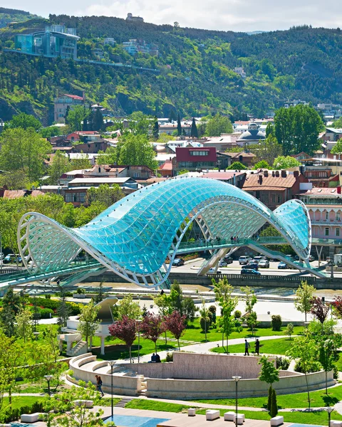
[[[95,391],[95,386],[88,382],[78,381],[79,387],[71,386],[70,389],[50,396],[44,403],[48,413],[48,423],[54,418],[56,427],[90,427],[103,426],[103,410],[89,411],[86,404],[75,405],[75,401],[93,401],[94,406],[100,404],[100,394]],[[49,424],[48,424],[49,425]],[[51,425],[51,424],[50,424]]]

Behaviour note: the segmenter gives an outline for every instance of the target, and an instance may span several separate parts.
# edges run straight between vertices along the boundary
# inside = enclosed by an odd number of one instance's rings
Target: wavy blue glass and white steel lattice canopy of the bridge
[[[157,286],[170,273],[193,221],[205,239],[249,238],[269,222],[300,258],[309,257],[311,223],[301,201],[293,199],[270,211],[235,186],[187,177],[135,191],[80,228],[66,228],[34,212],[25,214],[19,223],[19,248],[32,273],[64,267],[83,249],[126,280]]]

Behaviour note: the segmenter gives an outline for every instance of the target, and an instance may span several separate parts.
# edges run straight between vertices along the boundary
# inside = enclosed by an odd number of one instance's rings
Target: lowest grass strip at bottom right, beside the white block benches
[[[214,408],[213,408],[214,409]],[[198,409],[196,413],[204,415],[207,409]],[[219,409],[221,416],[227,409]],[[244,416],[253,420],[267,420],[271,419],[271,416],[266,411],[239,411],[244,413]],[[328,426],[328,413],[326,411],[317,412],[279,412],[278,415],[284,416],[285,423],[298,423],[298,424],[314,424],[316,426]],[[334,413],[331,418],[334,418]],[[337,418],[340,418],[338,415]]]

